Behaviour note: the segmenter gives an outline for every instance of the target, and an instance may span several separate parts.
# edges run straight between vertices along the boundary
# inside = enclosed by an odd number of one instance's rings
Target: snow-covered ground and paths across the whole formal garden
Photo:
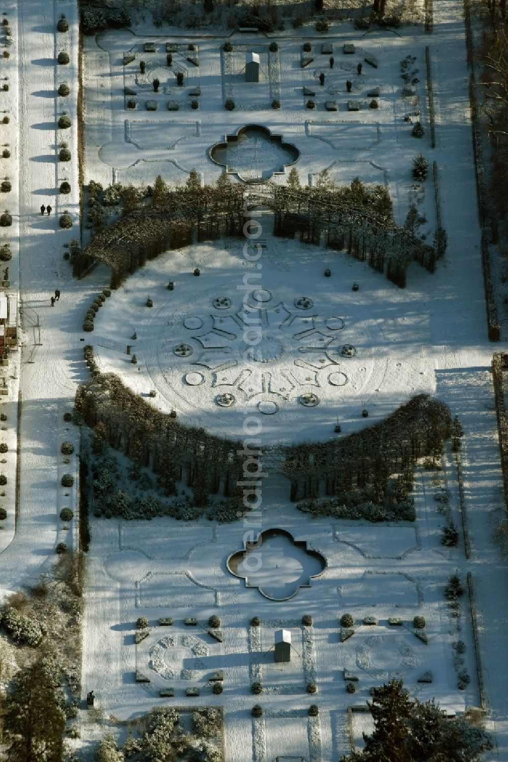
[[[73,280],[63,259],[72,236],[79,237],[77,4],[23,0],[4,10],[12,20],[11,57],[6,59],[11,69],[5,69],[11,83],[5,102],[12,120],[2,127],[14,124],[18,135],[6,131],[3,141],[12,149],[2,161],[14,180],[9,199],[13,225],[2,228],[0,237],[11,243],[11,288],[19,287],[21,294],[24,347],[21,362],[5,369],[18,378],[11,378],[5,406],[8,519],[0,533],[2,597],[37,581],[56,558],[56,543],[77,546],[78,511],[69,524],[59,520],[61,508],[75,508],[78,496],[80,432],[63,414],[72,411],[77,386],[88,378],[82,353],[88,342],[104,373],[119,374],[159,410],[177,411],[184,424],[224,437],[242,437],[244,420],[251,415],[260,418],[259,438],[265,446],[342,437],[382,420],[420,392],[446,402],[465,432],[463,504],[457,456],[447,446],[439,471],[417,465],[411,493],[414,523],[311,519],[289,502],[289,483],[277,473],[276,463],[267,469],[259,516],[247,514],[244,522],[91,516],[81,699],[94,690],[99,712],[80,712],[81,739],[72,744],[81,759],[92,759],[95,741],[110,728],[125,740],[126,726],[117,720],[172,703],[187,710],[223,707],[227,762],[273,762],[276,757],[336,762],[352,746],[360,748],[362,732],[372,728],[369,714],[362,711],[370,689],[398,677],[411,696],[435,696],[450,714],[480,706],[484,696],[487,727],[496,741],[490,759],[508,762],[508,568],[493,538],[503,519],[503,492],[462,2],[434,3],[432,35],[411,26],[398,34],[376,29],[361,37],[344,23],[323,37],[312,24],[299,30],[299,37],[274,34],[276,51],[261,35],[234,33],[232,50],[224,51],[226,36],[200,37],[197,30],[175,34],[168,27],[158,31],[147,21],[137,30],[84,37],[85,183],[153,184],[161,174],[174,187],[187,181],[192,168],[203,182],[216,181],[222,165],[212,162],[210,149],[255,123],[282,142],[264,145],[254,131],[243,143],[245,151],[241,142],[238,150],[224,149],[222,158],[225,153],[225,161],[232,162],[232,181],[240,181],[238,174],[257,178],[281,170],[286,142],[299,152],[294,166],[302,184],[318,182],[324,169],[340,184],[356,176],[385,184],[395,221],[403,224],[414,203],[423,219],[417,234],[431,243],[436,229],[433,173],[422,183],[411,173],[411,162],[422,151],[431,170],[436,162],[449,243],[434,274],[411,264],[407,288],[401,290],[343,252],[274,238],[273,218],[264,210],[258,260],[249,261],[235,239],[167,251],[113,291],[89,334],[82,331],[85,312],[97,292],[109,286],[110,272],[99,266]],[[62,13],[69,32],[57,34]],[[155,53],[145,53],[148,41],[155,41]],[[324,41],[332,46],[333,69],[330,54],[321,53]],[[313,60],[302,69],[305,42],[312,43]],[[166,43],[174,49],[172,67],[166,63]],[[355,53],[344,54],[344,43],[353,43]],[[69,51],[68,65],[56,65],[61,50]],[[131,50],[135,55],[127,56],[124,66],[123,55]],[[259,88],[244,82],[242,62],[249,51],[260,56]],[[366,62],[370,56],[377,59],[377,69]],[[404,60],[409,63],[401,68]],[[408,67],[418,80],[409,85],[401,78]],[[182,85],[175,72],[183,74]],[[152,91],[155,75],[158,93]],[[69,84],[68,97],[56,96],[61,82]],[[406,86],[414,93],[403,97]],[[126,95],[125,88],[134,95]],[[303,88],[315,94],[304,94]],[[375,88],[379,95],[369,95]],[[134,108],[128,107],[128,98]],[[235,100],[235,110],[225,110],[226,98]],[[315,101],[314,109],[306,107],[309,99]],[[373,99],[378,108],[370,107]],[[280,108],[271,107],[274,100]],[[156,110],[147,111],[146,101],[155,101]],[[328,107],[337,101],[337,110],[327,110],[327,101]],[[357,101],[359,110],[348,110],[347,101]],[[62,110],[72,120],[66,130],[56,128]],[[418,119],[426,130],[422,139],[411,136]],[[70,162],[57,161],[63,141]],[[289,155],[295,154],[289,150]],[[273,179],[285,183],[288,171],[286,167]],[[70,194],[59,193],[62,181],[69,181]],[[51,216],[40,215],[41,203],[51,204]],[[71,229],[59,228],[64,211],[72,217]],[[84,223],[86,240],[91,234],[86,209]],[[196,267],[199,277],[193,275]],[[174,290],[168,290],[169,280]],[[353,291],[355,282],[359,290]],[[52,307],[56,288],[62,297]],[[260,341],[248,354],[248,318],[253,314]],[[362,417],[363,410],[368,418]],[[334,431],[337,423],[340,432]],[[61,452],[63,441],[74,445],[70,456]],[[70,488],[61,486],[65,472],[74,476]],[[449,490],[446,508],[434,499],[443,489]],[[459,533],[455,548],[441,544],[449,517]],[[235,567],[237,575],[228,571],[228,559],[245,549],[252,532],[273,528],[286,530],[295,543],[269,536],[260,556],[265,562],[254,576],[248,556],[244,566]],[[471,546],[467,558],[465,538]],[[450,607],[444,591],[455,571],[464,594]],[[292,597],[270,600],[258,588],[273,598]],[[340,626],[343,613],[353,616],[353,634]],[[209,627],[213,614],[219,616],[219,628]],[[149,620],[149,632],[143,639],[138,633],[136,643],[139,616]],[[251,624],[254,616],[257,625]],[[414,629],[415,616],[424,617],[423,628]],[[290,661],[274,660],[280,629],[291,636]],[[224,690],[213,693],[218,671]],[[251,693],[255,683],[263,686],[260,695]],[[355,686],[354,693],[347,692],[347,684]],[[309,687],[315,692],[308,692]],[[174,697],[161,697],[161,690],[169,688]],[[189,688],[200,696],[188,696]],[[264,713],[254,718],[256,703]],[[318,715],[309,716],[314,703]],[[96,722],[99,717],[104,722]]]

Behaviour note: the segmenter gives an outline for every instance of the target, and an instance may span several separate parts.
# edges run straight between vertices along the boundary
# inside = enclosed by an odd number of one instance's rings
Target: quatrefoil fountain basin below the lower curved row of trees
[[[246,588],[257,588],[270,600],[289,600],[300,588],[327,568],[327,560],[305,540],[294,539],[284,529],[260,532],[256,543],[244,540],[244,549],[228,557],[228,571],[245,580]]]

